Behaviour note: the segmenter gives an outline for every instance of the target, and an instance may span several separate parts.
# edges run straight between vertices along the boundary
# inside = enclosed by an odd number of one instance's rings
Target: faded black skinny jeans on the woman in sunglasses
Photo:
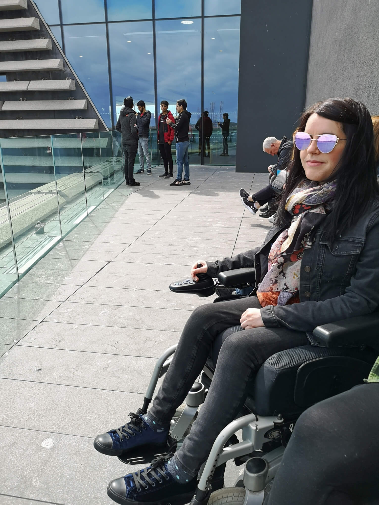
[[[170,423],[176,408],[200,375],[217,335],[240,324],[246,309],[260,307],[258,299],[251,296],[194,310],[185,323],[171,365],[149,411],[157,423]],[[240,412],[246,385],[254,371],[275,352],[307,343],[303,332],[266,327],[242,330],[225,340],[206,400],[191,432],[176,451],[177,459],[189,475],[198,473],[220,431]]]

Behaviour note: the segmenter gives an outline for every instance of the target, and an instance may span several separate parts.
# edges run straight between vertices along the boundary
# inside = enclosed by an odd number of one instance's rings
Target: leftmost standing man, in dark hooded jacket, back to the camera
[[[138,132],[133,98],[127,96],[116,124],[116,130],[121,132],[122,147],[124,149],[124,172],[127,186],[139,186],[134,179],[134,160],[138,149]]]

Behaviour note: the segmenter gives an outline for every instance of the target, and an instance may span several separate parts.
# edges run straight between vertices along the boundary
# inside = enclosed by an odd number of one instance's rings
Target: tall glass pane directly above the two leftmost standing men
[[[125,96],[132,96],[134,105],[144,100],[155,125],[153,23],[140,21],[109,24],[114,121],[118,120]]]

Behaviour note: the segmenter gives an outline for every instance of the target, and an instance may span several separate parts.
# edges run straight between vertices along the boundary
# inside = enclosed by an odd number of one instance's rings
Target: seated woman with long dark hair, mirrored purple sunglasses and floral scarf
[[[106,455],[167,442],[170,421],[226,328],[209,392],[182,446],[165,461],[112,481],[118,503],[178,503],[191,497],[197,474],[220,431],[240,412],[246,386],[280,350],[305,345],[325,323],[369,314],[379,303],[379,187],[372,122],[351,98],[315,104],[300,118],[295,153],[264,243],[233,258],[201,261],[192,277],[255,267],[248,297],[203,305],[186,322],[173,360],[148,413],[98,435]],[[253,237],[252,237],[253,238]],[[187,500],[189,501],[189,500]]]

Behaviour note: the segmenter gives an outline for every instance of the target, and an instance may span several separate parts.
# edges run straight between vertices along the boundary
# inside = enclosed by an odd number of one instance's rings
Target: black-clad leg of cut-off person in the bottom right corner
[[[295,425],[265,505],[379,503],[379,384],[306,410]]]

